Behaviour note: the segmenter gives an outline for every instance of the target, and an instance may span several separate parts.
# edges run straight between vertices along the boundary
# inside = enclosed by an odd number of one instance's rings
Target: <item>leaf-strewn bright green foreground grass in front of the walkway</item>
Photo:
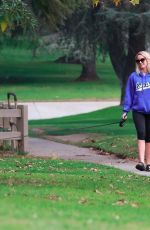
[[[96,164],[4,158],[0,228],[146,230],[149,183],[149,177]]]

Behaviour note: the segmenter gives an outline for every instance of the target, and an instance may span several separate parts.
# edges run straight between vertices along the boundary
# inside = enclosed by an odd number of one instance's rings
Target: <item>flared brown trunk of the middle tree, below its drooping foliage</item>
[[[96,74],[95,62],[87,62],[82,64],[82,72],[77,81],[97,81],[99,80]]]

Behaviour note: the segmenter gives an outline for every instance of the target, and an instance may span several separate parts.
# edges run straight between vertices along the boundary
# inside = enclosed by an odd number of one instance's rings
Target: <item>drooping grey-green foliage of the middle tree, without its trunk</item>
[[[61,30],[61,44],[67,50],[68,57],[73,56],[81,63],[95,58],[95,47],[100,41],[97,34],[101,38],[100,31],[96,31],[94,11],[89,2],[80,4]]]

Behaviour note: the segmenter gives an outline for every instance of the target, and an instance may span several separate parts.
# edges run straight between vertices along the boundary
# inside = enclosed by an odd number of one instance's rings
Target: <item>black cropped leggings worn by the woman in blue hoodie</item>
[[[150,114],[133,111],[132,116],[137,131],[137,138],[150,142]]]

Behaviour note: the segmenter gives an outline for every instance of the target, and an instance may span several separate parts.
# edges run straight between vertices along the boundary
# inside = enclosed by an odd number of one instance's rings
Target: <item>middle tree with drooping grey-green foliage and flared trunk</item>
[[[102,34],[96,24],[98,8],[93,8],[91,1],[81,1],[61,30],[62,42],[67,44],[68,58],[73,57],[82,65],[81,75],[77,79],[79,81],[99,79],[96,73],[96,53],[101,45]]]

